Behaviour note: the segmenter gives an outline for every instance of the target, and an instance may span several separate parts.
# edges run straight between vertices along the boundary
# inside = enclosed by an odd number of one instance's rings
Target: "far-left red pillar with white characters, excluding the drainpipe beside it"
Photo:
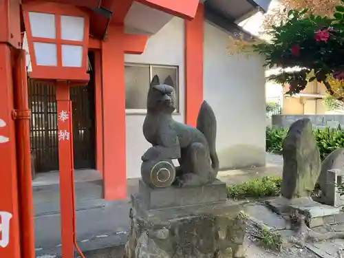
[[[12,50],[20,46],[20,1],[0,1],[0,257],[21,256]]]

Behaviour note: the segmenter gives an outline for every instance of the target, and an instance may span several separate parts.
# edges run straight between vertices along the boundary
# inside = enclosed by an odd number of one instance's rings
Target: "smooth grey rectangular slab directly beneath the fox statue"
[[[163,189],[151,189],[140,180],[138,195],[148,210],[226,202],[227,199],[226,184],[220,180],[203,186],[170,186]]]

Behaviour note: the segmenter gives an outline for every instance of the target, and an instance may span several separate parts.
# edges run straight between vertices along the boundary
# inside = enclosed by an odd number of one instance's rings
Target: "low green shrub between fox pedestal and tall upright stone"
[[[278,196],[281,191],[281,182],[281,178],[264,177],[248,180],[242,184],[228,185],[227,196],[231,199]]]

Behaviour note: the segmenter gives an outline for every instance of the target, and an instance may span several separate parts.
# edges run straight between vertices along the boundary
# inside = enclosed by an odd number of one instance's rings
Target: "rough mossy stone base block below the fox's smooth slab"
[[[125,258],[244,257],[246,215],[232,202],[138,212],[131,209]]]

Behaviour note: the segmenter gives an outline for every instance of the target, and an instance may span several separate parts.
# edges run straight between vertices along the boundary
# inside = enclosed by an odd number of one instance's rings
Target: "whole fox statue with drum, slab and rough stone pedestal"
[[[226,184],[216,179],[213,110],[202,104],[197,128],[176,122],[173,82],[167,77],[161,84],[158,76],[151,82],[147,109],[143,133],[152,147],[142,156],[138,193],[131,195],[124,257],[244,257],[244,207],[227,201]]]

